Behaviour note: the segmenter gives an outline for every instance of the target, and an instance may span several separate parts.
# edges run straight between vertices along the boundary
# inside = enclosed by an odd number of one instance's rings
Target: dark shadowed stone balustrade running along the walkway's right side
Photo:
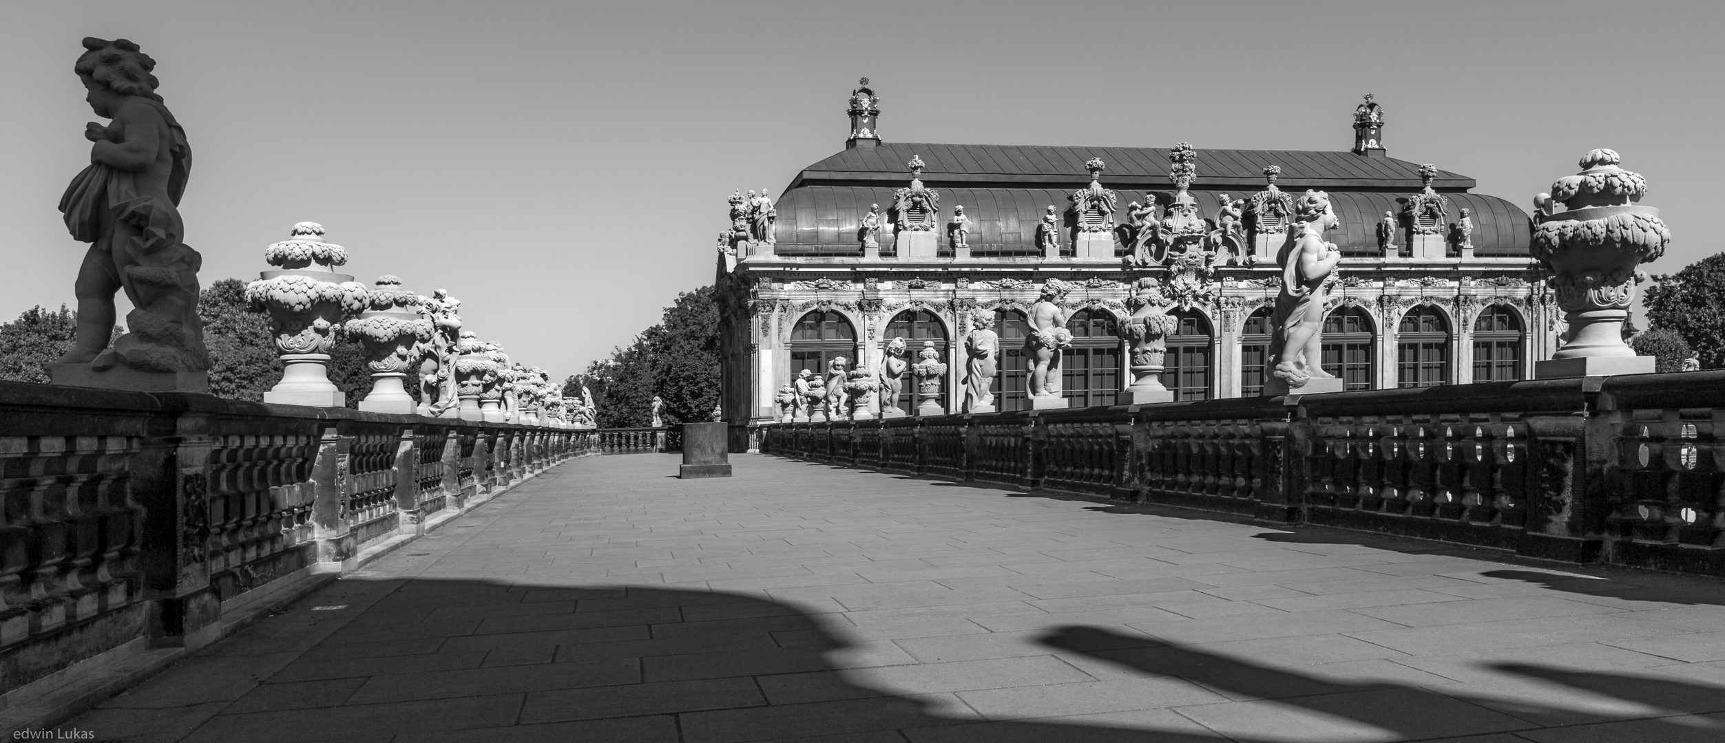
[[[761,450],[1725,576],[1725,371],[768,424]]]

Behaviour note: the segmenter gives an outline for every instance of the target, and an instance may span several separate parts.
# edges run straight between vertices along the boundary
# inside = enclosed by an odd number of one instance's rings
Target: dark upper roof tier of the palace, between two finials
[[[806,167],[792,188],[823,181],[909,181],[906,162],[921,157],[923,181],[954,184],[1090,183],[1085,160],[1107,164],[1102,183],[1109,188],[1168,188],[1166,147],[1026,147],[1026,145],[938,145],[887,143],[844,150]],[[1264,165],[1280,165],[1278,186],[1323,190],[1418,190],[1420,165],[1394,157],[1363,157],[1352,152],[1316,150],[1197,150],[1197,183],[1206,188],[1259,190]],[[1439,191],[1468,190],[1471,178],[1439,171]]]

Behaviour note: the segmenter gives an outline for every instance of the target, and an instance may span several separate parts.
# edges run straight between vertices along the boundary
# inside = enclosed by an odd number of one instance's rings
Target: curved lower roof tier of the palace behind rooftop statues
[[[926,162],[928,157],[925,155],[923,160]],[[907,178],[899,178],[907,183]],[[952,215],[952,207],[964,205],[964,214],[975,222],[969,236],[971,253],[978,257],[1040,255],[1035,247],[1035,233],[1044,209],[1054,205],[1057,212],[1064,214],[1071,205],[1068,197],[1083,186],[1083,183],[1071,181],[1066,188],[950,188],[926,172],[923,179],[930,188],[940,191],[942,222]],[[1080,176],[1080,179],[1088,181],[1085,176]],[[1104,184],[1113,186],[1107,181],[1111,178],[1104,174]],[[902,184],[794,186],[778,200],[778,222],[773,231],[773,236],[778,240],[775,252],[778,255],[861,255],[859,229],[862,215],[868,214],[871,203],[878,203],[881,221],[885,221],[887,207],[892,203],[892,191]],[[1418,186],[1404,193],[1330,191],[1330,203],[1340,222],[1330,231],[1330,241],[1340,247],[1346,255],[1377,255],[1377,221],[1387,210],[1399,214],[1401,203],[1397,198],[1406,198],[1406,195],[1416,190]],[[1170,191],[1171,188],[1168,186],[1156,190],[1156,193],[1161,193],[1163,203],[1170,200]],[[1213,217],[1220,207],[1218,193],[1228,193],[1232,198],[1245,198],[1254,191],[1258,188],[1228,191],[1194,190],[1189,193],[1197,198],[1199,214]],[[1120,193],[1120,212],[1114,219],[1121,222],[1126,219],[1126,205],[1130,202],[1144,202],[1144,191],[1123,191],[1116,188],[1116,193]],[[1446,193],[1446,197],[1451,200],[1451,214],[1447,217],[1451,222],[1461,217],[1463,207],[1471,209],[1475,255],[1528,255],[1528,217],[1516,205],[1478,193]],[[890,224],[881,229],[878,240],[885,250],[890,250]],[[1063,243],[1068,241],[1070,238],[1063,240]],[[1397,240],[1397,245],[1402,245],[1402,240]]]

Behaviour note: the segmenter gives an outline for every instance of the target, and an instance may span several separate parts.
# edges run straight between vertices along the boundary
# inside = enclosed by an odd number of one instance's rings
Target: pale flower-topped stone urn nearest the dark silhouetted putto
[[[342,322],[367,305],[366,284],[335,272],[347,250],[323,240],[317,222],[298,222],[288,240],[264,248],[276,269],[245,284],[254,310],[269,312],[269,331],[281,357],[281,381],[264,402],[283,405],[343,407],[347,395],[329,383],[329,348]]]

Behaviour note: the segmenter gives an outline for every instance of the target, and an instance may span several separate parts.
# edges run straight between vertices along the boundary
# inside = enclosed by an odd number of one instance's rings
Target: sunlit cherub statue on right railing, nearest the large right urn
[[[1323,371],[1323,303],[1327,281],[1342,262],[1335,243],[1323,233],[1335,228],[1330,195],[1306,191],[1294,202],[1294,234],[1276,253],[1282,267],[1282,291],[1271,315],[1270,376],[1264,395],[1289,391],[1340,391],[1342,381]]]

